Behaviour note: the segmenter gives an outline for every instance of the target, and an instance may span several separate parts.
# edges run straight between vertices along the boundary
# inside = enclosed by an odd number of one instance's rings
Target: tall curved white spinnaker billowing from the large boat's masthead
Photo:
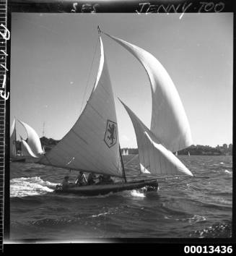
[[[191,130],[183,104],[166,69],[148,51],[112,35],[108,37],[133,54],[148,74],[152,89],[151,131],[154,135],[172,152],[192,145]]]

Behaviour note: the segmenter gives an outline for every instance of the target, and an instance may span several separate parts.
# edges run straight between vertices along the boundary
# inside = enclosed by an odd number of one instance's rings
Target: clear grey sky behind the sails
[[[12,13],[10,121],[60,140],[77,121],[97,76],[97,25],[144,48],[178,90],[194,145],[232,143],[233,14]],[[152,95],[144,68],[102,35],[115,95],[121,148],[136,147],[118,97],[150,127]],[[17,138],[27,137],[17,123]]]

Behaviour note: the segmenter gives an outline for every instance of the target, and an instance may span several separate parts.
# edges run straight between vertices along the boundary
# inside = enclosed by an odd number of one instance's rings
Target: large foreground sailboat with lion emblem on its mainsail
[[[163,176],[193,176],[191,171],[172,154],[174,150],[188,146],[191,135],[185,111],[169,75],[162,64],[147,51],[106,34],[131,51],[141,61],[148,74],[153,73],[149,74],[152,85],[151,129],[147,128],[121,101],[136,132],[140,174],[149,174],[143,179],[127,181],[119,144],[113,88],[99,27],[98,32],[100,64],[89,100],[74,126],[54,148],[45,153],[39,163],[68,170],[116,176],[122,180],[113,184],[93,184],[82,187],[58,186],[56,192],[100,195],[147,186],[157,188],[157,179]],[[165,113],[162,113],[163,111]],[[160,120],[161,127],[157,127],[157,119]],[[163,132],[167,134],[163,135]]]

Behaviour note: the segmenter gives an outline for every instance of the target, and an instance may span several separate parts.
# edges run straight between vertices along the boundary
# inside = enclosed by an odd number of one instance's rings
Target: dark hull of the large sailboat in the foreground
[[[77,195],[86,195],[86,196],[94,196],[94,195],[106,195],[110,192],[121,192],[124,190],[132,190],[132,189],[141,189],[143,187],[158,187],[157,180],[155,181],[137,181],[137,182],[127,182],[127,183],[114,183],[114,184],[95,184],[89,186],[82,187],[69,187],[66,189],[62,189],[58,187],[55,192],[56,193],[73,193]]]

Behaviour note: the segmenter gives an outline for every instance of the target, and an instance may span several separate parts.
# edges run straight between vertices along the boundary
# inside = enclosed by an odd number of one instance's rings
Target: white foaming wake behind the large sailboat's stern
[[[17,178],[10,180],[10,197],[27,197],[33,195],[44,195],[53,192],[56,183],[45,182],[40,177]]]

